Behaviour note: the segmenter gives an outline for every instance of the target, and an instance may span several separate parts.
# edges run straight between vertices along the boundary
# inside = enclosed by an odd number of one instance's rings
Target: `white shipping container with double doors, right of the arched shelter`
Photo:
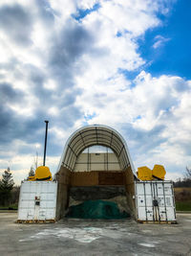
[[[176,221],[171,181],[136,181],[138,221]]]

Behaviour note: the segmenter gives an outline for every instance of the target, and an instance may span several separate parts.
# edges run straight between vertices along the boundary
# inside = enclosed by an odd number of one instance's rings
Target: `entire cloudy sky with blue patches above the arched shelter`
[[[76,128],[126,139],[136,168],[191,165],[191,2],[1,0],[0,170],[26,177],[43,155],[54,174]]]

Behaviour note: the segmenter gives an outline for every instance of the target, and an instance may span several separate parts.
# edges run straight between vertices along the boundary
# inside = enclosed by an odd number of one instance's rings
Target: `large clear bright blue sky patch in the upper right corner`
[[[168,16],[160,15],[163,26],[138,39],[139,53],[150,63],[145,71],[153,76],[175,75],[191,79],[191,2],[178,1]],[[163,38],[154,47],[157,38]]]

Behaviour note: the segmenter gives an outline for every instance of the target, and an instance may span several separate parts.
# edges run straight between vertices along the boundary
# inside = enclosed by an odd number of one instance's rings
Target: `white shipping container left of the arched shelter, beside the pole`
[[[57,182],[23,181],[18,221],[55,221]]]

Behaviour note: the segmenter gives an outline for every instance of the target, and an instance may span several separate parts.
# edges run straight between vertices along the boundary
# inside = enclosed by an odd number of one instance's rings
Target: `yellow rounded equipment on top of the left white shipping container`
[[[36,168],[35,175],[29,176],[29,181],[37,181],[37,180],[52,180],[52,173],[50,172],[49,167],[47,166],[39,166]]]

